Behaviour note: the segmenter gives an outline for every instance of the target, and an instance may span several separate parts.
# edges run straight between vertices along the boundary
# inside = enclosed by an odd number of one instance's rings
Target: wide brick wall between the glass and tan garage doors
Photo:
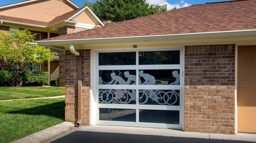
[[[235,45],[185,47],[185,131],[235,134]]]

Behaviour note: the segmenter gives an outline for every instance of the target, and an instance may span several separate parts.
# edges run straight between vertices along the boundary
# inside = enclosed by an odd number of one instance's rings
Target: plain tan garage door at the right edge
[[[256,45],[238,46],[238,132],[256,133]]]

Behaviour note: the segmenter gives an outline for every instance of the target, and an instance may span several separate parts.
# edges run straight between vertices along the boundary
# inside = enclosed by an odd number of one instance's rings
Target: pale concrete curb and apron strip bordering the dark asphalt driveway
[[[80,137],[85,137],[88,133],[99,132],[99,133],[113,133],[113,134],[135,134],[135,135],[154,135],[156,137],[165,136],[165,137],[174,137],[178,139],[210,139],[209,141],[223,142],[223,140],[234,140],[234,141],[250,141],[256,142],[256,134],[246,134],[238,133],[236,135],[225,135],[225,134],[209,134],[209,133],[195,133],[195,132],[184,132],[182,130],[175,129],[158,129],[158,128],[140,128],[140,127],[121,127],[121,126],[103,126],[103,125],[94,125],[87,127],[74,127],[73,124],[69,122],[64,122],[59,125],[50,127],[43,131],[34,133],[32,135],[23,137],[14,141],[13,143],[49,143],[52,141],[67,141],[70,139],[70,136],[74,138],[77,134],[80,134]],[[68,135],[69,134],[69,135]],[[83,136],[84,134],[84,136]],[[66,136],[67,135],[67,136]],[[79,139],[79,136],[77,136]],[[81,139],[80,138],[80,139]],[[77,138],[75,138],[77,139]],[[97,138],[96,138],[97,139]],[[75,141],[75,140],[73,140]],[[205,140],[204,140],[205,141]],[[206,140],[207,141],[207,140]],[[79,141],[78,141],[79,142]]]

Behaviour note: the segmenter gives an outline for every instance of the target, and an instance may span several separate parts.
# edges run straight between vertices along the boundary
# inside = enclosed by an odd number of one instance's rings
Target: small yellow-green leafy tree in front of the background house
[[[8,33],[0,30],[0,69],[5,71],[4,65],[10,66],[12,78],[8,82],[12,86],[20,85],[21,75],[26,70],[21,70],[21,67],[26,63],[32,63],[31,67],[34,68],[45,61],[52,61],[56,54],[45,47],[31,44],[35,42],[34,38],[35,34],[27,29],[11,29]]]

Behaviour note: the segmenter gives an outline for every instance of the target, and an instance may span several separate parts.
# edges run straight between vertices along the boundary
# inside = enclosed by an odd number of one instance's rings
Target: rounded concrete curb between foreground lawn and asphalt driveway
[[[64,122],[45,130],[36,132],[26,137],[15,140],[11,143],[49,143],[58,138],[61,138],[71,132],[76,131],[80,127],[74,127],[74,124]]]

